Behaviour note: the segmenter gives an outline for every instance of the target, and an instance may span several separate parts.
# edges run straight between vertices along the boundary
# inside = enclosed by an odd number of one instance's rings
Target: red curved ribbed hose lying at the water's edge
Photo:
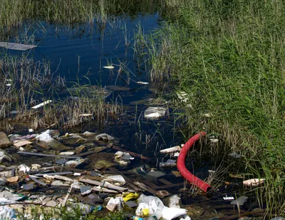
[[[198,186],[199,189],[202,189],[202,191],[207,192],[211,189],[211,186],[209,184],[206,184],[204,181],[199,179],[197,176],[190,173],[190,171],[187,170],[185,166],[185,159],[187,156],[187,151],[189,151],[193,144],[200,139],[200,136],[205,136],[206,133],[204,131],[201,131],[199,134],[196,134],[195,136],[192,136],[189,141],[186,142],[186,144],[182,147],[182,150],[180,151],[180,154],[177,159],[177,169],[180,171],[180,174],[190,181],[190,183],[194,184],[195,186]]]

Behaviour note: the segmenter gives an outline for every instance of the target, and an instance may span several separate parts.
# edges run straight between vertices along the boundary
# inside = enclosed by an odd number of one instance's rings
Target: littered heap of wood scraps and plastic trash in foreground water
[[[6,136],[0,132],[0,219],[23,214],[33,219],[32,209],[44,206],[79,207],[83,215],[127,209],[130,219],[190,220],[177,190],[187,186],[176,169],[182,147],[160,150],[167,159],[157,164],[157,170],[148,165],[149,158],[123,149],[109,134],[86,131],[61,136],[56,130],[41,134],[30,130],[27,135]],[[170,176],[179,181],[170,181]],[[264,181],[251,179],[244,186]],[[243,206],[248,199],[223,198],[233,206]]]

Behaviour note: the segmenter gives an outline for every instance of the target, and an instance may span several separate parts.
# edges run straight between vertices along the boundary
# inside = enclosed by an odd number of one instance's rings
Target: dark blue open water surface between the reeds
[[[29,56],[33,57],[35,61],[43,59],[51,61],[51,71],[64,76],[67,86],[78,83],[103,87],[125,87],[123,90],[113,91],[113,94],[106,100],[112,102],[118,97],[122,100],[123,115],[119,116],[118,121],[106,120],[100,125],[90,122],[68,132],[108,133],[120,139],[120,146],[125,149],[149,156],[153,159],[150,162],[151,166],[157,167],[160,161],[166,160],[158,153],[159,150],[182,144],[182,136],[179,132],[175,132],[176,121],[173,116],[157,121],[147,121],[142,117],[147,105],[133,104],[134,101],[150,97],[157,98],[157,94],[161,94],[161,91],[158,90],[155,94],[155,89],[157,89],[155,84],[142,86],[135,83],[135,81],[150,82],[145,65],[138,64],[133,49],[135,33],[138,32],[139,24],[145,34],[150,33],[160,27],[160,16],[158,14],[138,15],[135,18],[118,16],[105,24],[92,26],[90,24],[63,26],[38,22],[38,28],[31,30],[35,36],[34,43],[38,47],[33,49]],[[20,54],[19,51],[8,52]],[[120,62],[129,71],[129,76],[124,72],[120,74],[122,79],[118,77]],[[115,68],[111,70],[103,68],[109,64],[113,64]],[[192,171],[199,174],[201,179],[208,175],[205,169],[201,172],[201,170],[193,168]],[[206,200],[199,199],[199,197],[194,199],[188,197],[184,200],[187,204],[204,205],[204,209],[209,209],[206,207],[207,205],[228,204],[222,200],[222,196],[225,196],[224,189],[221,193]]]

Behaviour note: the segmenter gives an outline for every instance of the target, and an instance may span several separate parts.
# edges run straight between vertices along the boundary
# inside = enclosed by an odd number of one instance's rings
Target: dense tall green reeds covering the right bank
[[[283,1],[184,1],[145,40],[152,81],[189,94],[192,108],[180,106],[189,136],[220,134],[224,154],[244,155],[244,169],[266,178],[258,196],[268,214],[285,211],[283,9]]]

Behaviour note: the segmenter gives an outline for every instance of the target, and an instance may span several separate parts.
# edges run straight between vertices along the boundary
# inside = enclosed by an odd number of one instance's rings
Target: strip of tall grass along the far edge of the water
[[[1,38],[11,36],[26,21],[58,24],[100,24],[115,16],[155,13],[165,8],[162,0],[0,0]]]

